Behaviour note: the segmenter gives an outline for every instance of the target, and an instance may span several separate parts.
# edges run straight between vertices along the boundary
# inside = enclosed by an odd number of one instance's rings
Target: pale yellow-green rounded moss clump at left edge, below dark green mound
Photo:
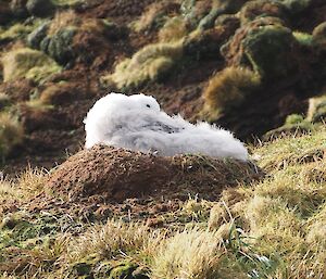
[[[61,67],[40,51],[28,48],[15,49],[7,52],[2,58],[3,80],[30,78],[37,83],[45,81]]]

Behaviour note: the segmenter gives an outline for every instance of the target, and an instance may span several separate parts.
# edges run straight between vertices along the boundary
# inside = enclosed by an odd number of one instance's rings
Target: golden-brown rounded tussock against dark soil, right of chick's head
[[[216,73],[203,92],[204,111],[212,117],[235,107],[260,86],[260,76],[248,68],[226,67]]]

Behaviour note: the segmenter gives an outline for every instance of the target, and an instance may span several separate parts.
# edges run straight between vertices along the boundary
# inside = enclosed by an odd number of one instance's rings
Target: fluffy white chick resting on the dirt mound
[[[104,143],[165,156],[193,153],[248,158],[247,149],[229,131],[168,116],[153,97],[145,94],[110,93],[96,102],[84,123],[87,149]]]

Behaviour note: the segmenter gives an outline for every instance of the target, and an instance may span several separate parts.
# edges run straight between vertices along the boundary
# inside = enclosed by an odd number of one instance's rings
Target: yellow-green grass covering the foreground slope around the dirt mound
[[[323,278],[325,144],[324,125],[252,148],[265,179],[226,189],[220,201],[190,199],[170,228],[118,216],[82,225],[63,213],[5,215],[0,270],[47,278]],[[29,201],[46,179],[29,170],[16,185],[1,182],[1,196]],[[177,221],[187,215],[191,221]]]

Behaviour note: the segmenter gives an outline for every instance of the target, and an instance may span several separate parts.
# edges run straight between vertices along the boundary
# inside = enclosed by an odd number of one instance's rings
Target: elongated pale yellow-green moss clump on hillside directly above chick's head
[[[149,45],[135,53],[131,59],[118,63],[112,75],[102,77],[102,83],[113,83],[121,89],[159,80],[172,68],[181,53],[180,41]]]

